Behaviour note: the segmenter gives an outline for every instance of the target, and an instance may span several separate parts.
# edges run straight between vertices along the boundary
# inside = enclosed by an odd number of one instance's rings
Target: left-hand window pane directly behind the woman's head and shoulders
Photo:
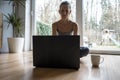
[[[65,0],[35,0],[35,24],[37,35],[51,35],[51,24],[60,19],[59,5]],[[72,13],[70,18],[76,19],[76,0],[68,0],[71,3]]]

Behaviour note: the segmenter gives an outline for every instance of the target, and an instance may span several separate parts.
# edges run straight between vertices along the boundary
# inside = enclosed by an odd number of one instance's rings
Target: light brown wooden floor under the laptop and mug
[[[0,54],[0,80],[120,80],[120,56],[101,55],[104,62],[93,68],[90,55],[80,69],[34,68],[32,52]]]

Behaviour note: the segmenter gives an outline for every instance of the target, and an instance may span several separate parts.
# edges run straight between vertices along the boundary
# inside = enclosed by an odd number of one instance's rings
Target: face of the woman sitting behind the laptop
[[[71,13],[71,9],[68,5],[62,5],[59,10],[62,19],[68,19]]]

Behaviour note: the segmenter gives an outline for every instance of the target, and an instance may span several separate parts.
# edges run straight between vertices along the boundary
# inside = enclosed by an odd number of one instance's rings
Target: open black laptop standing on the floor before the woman
[[[78,69],[79,45],[80,36],[33,36],[33,65]]]

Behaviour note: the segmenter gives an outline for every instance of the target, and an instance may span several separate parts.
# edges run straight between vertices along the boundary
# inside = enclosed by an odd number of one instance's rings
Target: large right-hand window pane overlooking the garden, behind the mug
[[[120,0],[83,0],[84,46],[120,50]]]

